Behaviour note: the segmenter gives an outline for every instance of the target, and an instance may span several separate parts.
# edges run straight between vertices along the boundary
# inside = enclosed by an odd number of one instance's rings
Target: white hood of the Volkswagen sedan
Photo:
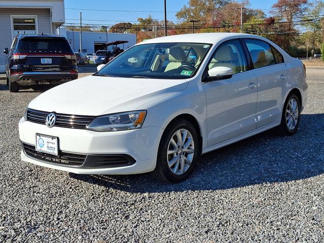
[[[88,76],[59,85],[32,100],[35,110],[74,115],[131,111],[187,87],[186,79]]]

